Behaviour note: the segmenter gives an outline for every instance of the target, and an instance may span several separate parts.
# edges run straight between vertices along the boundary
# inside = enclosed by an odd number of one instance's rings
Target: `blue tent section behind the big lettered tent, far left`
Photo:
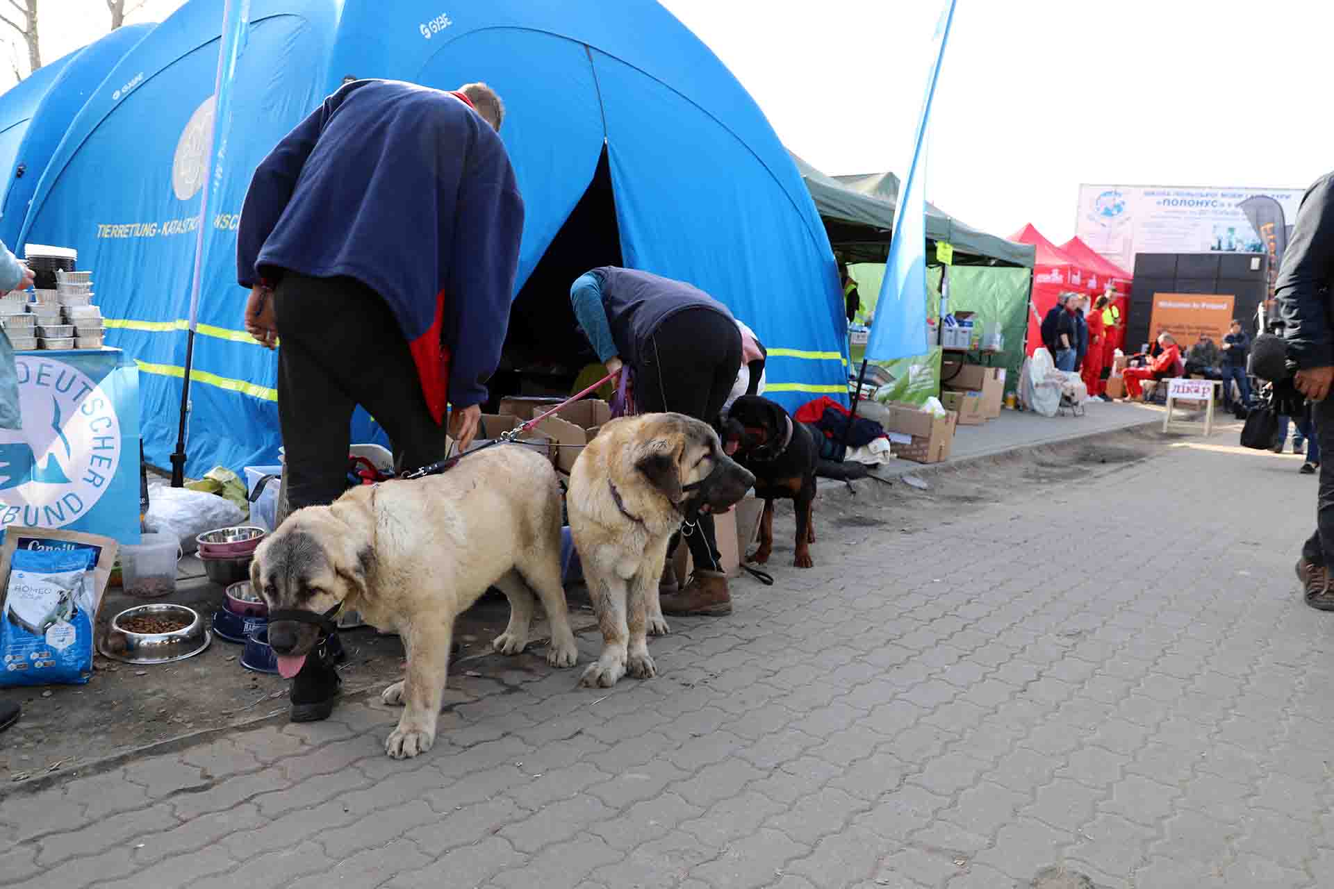
[[[61,67],[51,87],[44,92],[41,103],[33,111],[33,124],[27,128],[12,163],[5,165],[5,157],[0,153],[0,171],[7,172],[5,181],[9,183],[9,188],[4,193],[3,209],[0,209],[0,241],[13,244],[17,240],[24,216],[28,212],[28,201],[37,191],[41,172],[47,168],[47,163],[60,140],[64,139],[69,124],[116,63],[155,27],[137,24],[117,28],[101,40],[61,59],[61,63],[68,60],[68,64]],[[47,68],[49,65],[40,68],[39,73]],[[3,101],[4,97],[0,97],[0,103]],[[19,175],[20,165],[23,167],[21,176]]]

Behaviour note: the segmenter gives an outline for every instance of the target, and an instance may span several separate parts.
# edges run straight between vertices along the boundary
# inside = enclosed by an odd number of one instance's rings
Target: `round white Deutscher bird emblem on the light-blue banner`
[[[16,356],[23,429],[0,429],[0,526],[63,528],[88,514],[120,465],[120,419],[88,376]]]

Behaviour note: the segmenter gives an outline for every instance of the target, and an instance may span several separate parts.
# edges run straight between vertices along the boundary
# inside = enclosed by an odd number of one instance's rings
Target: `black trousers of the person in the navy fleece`
[[[390,435],[399,469],[444,458],[444,429],[427,408],[403,331],[375,291],[348,277],[285,272],[273,311],[289,509],[331,504],[347,489],[356,405]]]

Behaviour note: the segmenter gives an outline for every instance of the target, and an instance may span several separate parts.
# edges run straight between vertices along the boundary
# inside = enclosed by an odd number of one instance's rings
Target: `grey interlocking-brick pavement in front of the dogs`
[[[1223,437],[822,541],[675,621],[656,680],[510,670],[418,760],[354,702],[11,796],[0,884],[1327,886],[1315,482]]]

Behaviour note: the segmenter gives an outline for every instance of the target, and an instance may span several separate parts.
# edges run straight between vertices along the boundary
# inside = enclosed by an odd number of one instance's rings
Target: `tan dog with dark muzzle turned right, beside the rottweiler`
[[[580,685],[658,674],[647,634],[667,632],[658,602],[667,544],[683,520],[727,509],[752,484],[707,423],[680,413],[612,420],[588,443],[570,473],[566,510],[603,649]]]

